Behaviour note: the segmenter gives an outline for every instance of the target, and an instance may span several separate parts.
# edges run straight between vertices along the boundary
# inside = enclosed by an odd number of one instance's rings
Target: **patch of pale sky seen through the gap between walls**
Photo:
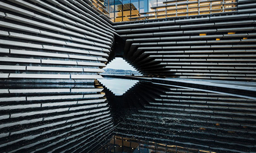
[[[124,70],[133,70],[136,71],[131,65],[129,65],[126,61],[122,58],[115,58],[112,60],[105,68],[112,68],[112,69],[124,69]],[[105,69],[104,68],[104,69]]]

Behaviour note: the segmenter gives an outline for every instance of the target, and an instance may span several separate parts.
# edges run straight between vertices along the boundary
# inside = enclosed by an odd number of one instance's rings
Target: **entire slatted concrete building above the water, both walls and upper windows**
[[[115,52],[153,77],[256,79],[255,1],[138,3],[0,1],[1,81],[93,82]]]

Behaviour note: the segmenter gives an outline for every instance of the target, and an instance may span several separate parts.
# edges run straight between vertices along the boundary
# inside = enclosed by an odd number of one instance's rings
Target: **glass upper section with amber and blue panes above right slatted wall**
[[[237,0],[109,0],[105,10],[113,22],[207,15],[237,10]]]

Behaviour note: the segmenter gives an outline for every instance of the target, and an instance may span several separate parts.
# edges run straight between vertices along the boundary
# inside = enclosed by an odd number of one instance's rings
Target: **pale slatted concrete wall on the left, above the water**
[[[112,25],[85,1],[0,1],[0,81],[94,82]]]

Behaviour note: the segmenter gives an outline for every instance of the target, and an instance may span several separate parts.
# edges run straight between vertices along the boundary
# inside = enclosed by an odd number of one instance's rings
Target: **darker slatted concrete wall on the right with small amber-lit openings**
[[[178,1],[177,1],[178,2]],[[124,58],[154,77],[255,80],[255,1],[235,12],[114,23]]]

